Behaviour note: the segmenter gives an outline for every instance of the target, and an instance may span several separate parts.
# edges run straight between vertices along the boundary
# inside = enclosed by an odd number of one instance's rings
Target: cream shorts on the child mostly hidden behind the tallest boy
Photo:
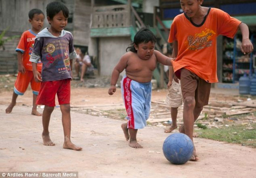
[[[182,92],[181,92],[181,81],[179,83],[172,80],[172,85],[168,88],[168,92],[165,99],[165,104],[172,108],[177,108],[182,105]]]

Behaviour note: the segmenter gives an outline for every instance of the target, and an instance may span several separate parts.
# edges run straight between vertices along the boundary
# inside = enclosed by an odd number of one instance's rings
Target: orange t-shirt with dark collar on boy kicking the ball
[[[178,54],[172,61],[175,75],[185,68],[209,83],[218,82],[216,38],[233,38],[241,21],[217,8],[209,8],[204,21],[197,25],[187,15],[177,15],[172,22],[168,42],[177,40]]]

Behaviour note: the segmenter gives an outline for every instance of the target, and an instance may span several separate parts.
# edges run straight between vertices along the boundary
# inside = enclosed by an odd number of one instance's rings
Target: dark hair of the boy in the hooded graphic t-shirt
[[[62,2],[54,1],[50,2],[46,6],[46,15],[50,19],[53,19],[53,17],[58,14],[60,11],[62,11],[65,18],[69,17],[69,9],[68,7],[63,4]]]

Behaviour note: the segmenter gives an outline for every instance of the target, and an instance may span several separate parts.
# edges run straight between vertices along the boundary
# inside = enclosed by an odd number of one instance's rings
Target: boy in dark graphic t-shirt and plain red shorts
[[[50,139],[48,127],[57,93],[64,130],[63,148],[81,150],[81,147],[74,145],[70,140],[70,81],[72,59],[76,58],[76,52],[72,34],[63,30],[68,23],[69,10],[62,2],[51,2],[46,6],[46,13],[51,27],[45,28],[36,36],[30,57],[35,81],[42,81],[37,104],[45,105],[42,120],[43,144],[55,145]],[[42,79],[36,68],[40,58],[43,63]]]

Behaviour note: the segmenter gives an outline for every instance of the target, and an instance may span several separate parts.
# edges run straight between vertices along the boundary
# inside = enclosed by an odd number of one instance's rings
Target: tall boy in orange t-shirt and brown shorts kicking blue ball
[[[183,121],[179,129],[193,140],[194,122],[203,106],[208,105],[211,83],[218,82],[216,38],[233,38],[240,28],[242,52],[251,53],[248,26],[217,8],[203,7],[203,0],[180,0],[183,14],[172,22],[168,42],[173,42],[177,56],[172,61],[175,75],[181,81],[184,99]],[[194,147],[195,148],[195,147]],[[194,149],[191,160],[198,160]]]

